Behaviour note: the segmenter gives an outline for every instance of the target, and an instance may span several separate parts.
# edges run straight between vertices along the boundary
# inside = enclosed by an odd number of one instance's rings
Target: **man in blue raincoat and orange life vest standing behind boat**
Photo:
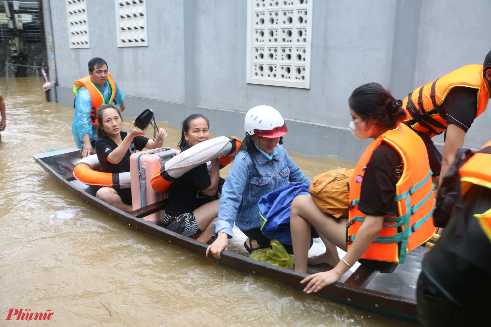
[[[73,83],[75,117],[72,134],[75,144],[82,149],[82,156],[90,155],[97,139],[97,109],[102,105],[119,105],[124,111],[124,94],[108,72],[104,59],[93,58],[89,61],[89,76]]]

